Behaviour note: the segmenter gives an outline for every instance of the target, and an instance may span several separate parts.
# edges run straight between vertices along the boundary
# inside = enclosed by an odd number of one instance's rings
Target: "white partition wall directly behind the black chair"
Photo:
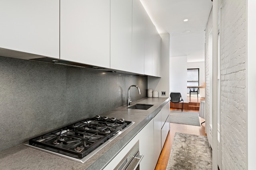
[[[170,92],[180,92],[187,102],[187,56],[170,57]]]

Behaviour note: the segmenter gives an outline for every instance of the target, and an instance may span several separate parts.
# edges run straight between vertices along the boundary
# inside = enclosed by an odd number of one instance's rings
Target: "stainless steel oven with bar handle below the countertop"
[[[114,168],[114,170],[139,170],[140,161],[144,155],[140,155],[139,141],[128,151],[124,158]]]

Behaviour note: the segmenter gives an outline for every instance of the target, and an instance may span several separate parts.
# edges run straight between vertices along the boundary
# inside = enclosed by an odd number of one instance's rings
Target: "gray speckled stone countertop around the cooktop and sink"
[[[99,150],[85,163],[62,158],[41,150],[24,145],[18,145],[0,152],[0,167],[4,170],[100,170],[115,156],[161,109],[169,102],[169,98],[143,98],[132,102],[134,104],[153,104],[148,110],[126,109],[127,106],[118,107],[102,115],[108,117],[124,118],[135,123]]]

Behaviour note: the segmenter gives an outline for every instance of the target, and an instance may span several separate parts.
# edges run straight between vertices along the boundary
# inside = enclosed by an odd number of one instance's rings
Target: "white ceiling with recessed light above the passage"
[[[206,23],[211,0],[140,0],[160,34],[170,34],[171,57],[204,61]],[[184,19],[188,21],[184,22]],[[190,33],[182,33],[190,30]]]

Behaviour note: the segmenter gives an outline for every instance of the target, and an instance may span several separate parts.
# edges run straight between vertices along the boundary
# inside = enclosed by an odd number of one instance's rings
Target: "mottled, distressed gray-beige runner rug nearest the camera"
[[[207,137],[176,132],[166,170],[212,170]]]

